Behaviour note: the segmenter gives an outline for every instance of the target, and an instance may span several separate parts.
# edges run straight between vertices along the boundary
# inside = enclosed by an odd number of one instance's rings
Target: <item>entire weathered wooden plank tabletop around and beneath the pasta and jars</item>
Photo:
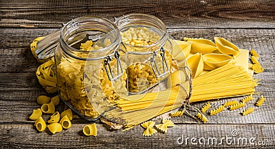
[[[256,92],[266,97],[263,106],[255,107],[245,117],[240,115],[241,109],[208,116],[207,124],[188,116],[172,118],[173,128],[151,137],[142,136],[141,126],[126,132],[109,131],[100,122],[97,122],[98,136],[86,137],[82,129],[89,122],[81,119],[73,120],[72,128],[56,135],[36,131],[28,116],[32,109],[40,107],[36,98],[50,94],[36,79],[34,72],[39,63],[30,51],[32,40],[51,33],[72,18],[94,15],[113,20],[133,12],[162,19],[168,33],[178,40],[221,36],[241,49],[255,49],[265,68],[265,72],[254,75],[261,79]],[[0,148],[275,148],[274,48],[274,0],[0,1]],[[217,106],[223,101],[211,103]],[[201,107],[204,103],[193,105]],[[62,111],[63,107],[61,103],[57,110]],[[203,139],[211,138],[218,139],[220,144],[203,143]],[[255,141],[238,143],[239,138]]]

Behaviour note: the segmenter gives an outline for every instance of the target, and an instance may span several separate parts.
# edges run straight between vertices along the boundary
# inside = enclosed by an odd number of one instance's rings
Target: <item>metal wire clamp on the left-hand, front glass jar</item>
[[[116,70],[117,70],[117,75],[113,75],[113,71],[111,70],[111,65],[110,62],[116,59]],[[118,51],[115,51],[115,53],[108,55],[107,57],[104,58],[104,68],[106,70],[108,79],[110,81],[118,81],[118,78],[122,76],[123,74],[123,69],[120,63],[120,53]]]

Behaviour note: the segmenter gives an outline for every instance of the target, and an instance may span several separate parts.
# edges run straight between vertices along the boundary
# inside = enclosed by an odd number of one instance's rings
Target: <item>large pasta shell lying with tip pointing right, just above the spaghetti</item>
[[[203,55],[204,69],[213,70],[228,64],[233,58],[225,54],[209,53]]]

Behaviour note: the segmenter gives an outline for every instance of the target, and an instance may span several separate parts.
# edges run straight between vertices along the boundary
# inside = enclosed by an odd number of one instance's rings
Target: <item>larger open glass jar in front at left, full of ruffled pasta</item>
[[[110,82],[104,62],[118,62],[120,42],[118,27],[104,18],[76,18],[61,29],[55,52],[58,95],[86,120],[109,108],[101,87]],[[122,71],[111,79],[121,76]]]

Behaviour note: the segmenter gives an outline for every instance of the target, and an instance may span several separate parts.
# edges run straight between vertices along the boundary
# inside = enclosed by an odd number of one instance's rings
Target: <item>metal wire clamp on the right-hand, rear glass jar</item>
[[[159,68],[157,67],[157,63],[155,62],[155,57],[157,56],[157,53],[159,52],[159,55],[162,57],[162,72],[159,72]],[[165,49],[162,47],[156,51],[153,51],[153,56],[151,57],[151,67],[153,68],[153,72],[155,74],[155,77],[164,77],[165,74],[169,72],[168,64],[166,62],[165,55]]]

